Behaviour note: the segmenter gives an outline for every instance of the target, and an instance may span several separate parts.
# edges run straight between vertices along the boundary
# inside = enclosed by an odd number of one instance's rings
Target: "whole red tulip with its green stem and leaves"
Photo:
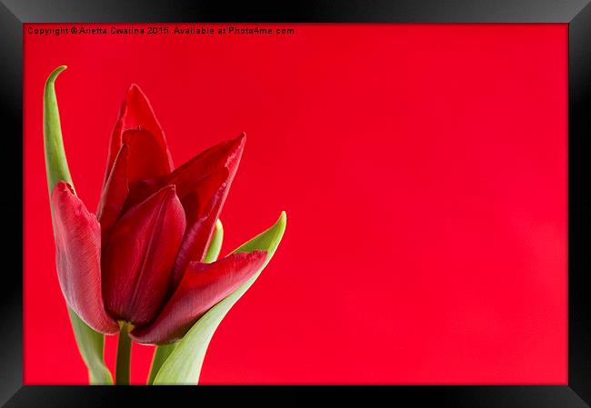
[[[119,332],[115,383],[129,383],[131,340],[160,344],[149,384],[196,383],[225,313],[275,254],[276,223],[217,260],[219,215],[245,134],[174,168],[165,134],[136,85],[121,106],[95,214],[75,194],[65,159],[55,78],[44,92],[44,147],[57,275],[90,383],[112,384],[105,336]]]

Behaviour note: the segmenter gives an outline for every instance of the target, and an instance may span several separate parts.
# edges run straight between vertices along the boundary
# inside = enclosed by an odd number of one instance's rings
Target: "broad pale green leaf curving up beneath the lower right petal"
[[[245,284],[232,294],[229,294],[220,303],[215,304],[191,327],[185,337],[176,343],[175,350],[166,359],[156,375],[155,384],[194,384],[198,382],[205,352],[215,333],[215,329],[217,329],[230,308],[254,284],[258,275],[261,274],[261,271],[275,254],[275,250],[285,232],[285,222],[286,216],[285,212],[283,212],[275,225],[234,251],[235,253],[252,252],[256,249],[267,251],[265,264]]]

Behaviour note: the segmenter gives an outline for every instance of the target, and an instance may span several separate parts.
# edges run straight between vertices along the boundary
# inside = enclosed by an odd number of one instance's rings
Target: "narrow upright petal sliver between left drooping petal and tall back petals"
[[[129,186],[127,183],[127,154],[128,146],[124,144],[119,150],[119,154],[115,159],[115,164],[111,170],[109,178],[106,179],[101,199],[96,210],[96,217],[101,224],[103,245],[108,240],[108,235],[121,212],[125,199],[129,193]]]

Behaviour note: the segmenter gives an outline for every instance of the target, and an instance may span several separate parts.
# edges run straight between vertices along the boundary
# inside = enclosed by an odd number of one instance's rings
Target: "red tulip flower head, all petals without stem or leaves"
[[[152,107],[129,88],[96,216],[70,184],[51,192],[59,283],[86,324],[170,343],[261,268],[264,251],[204,263],[244,146],[242,134],[175,169]]]

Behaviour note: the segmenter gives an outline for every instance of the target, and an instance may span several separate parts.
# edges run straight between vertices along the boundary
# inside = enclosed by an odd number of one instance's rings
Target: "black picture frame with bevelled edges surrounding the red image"
[[[413,406],[575,408],[591,405],[591,4],[590,0],[330,0],[280,5],[200,0],[0,0],[0,214],[2,347],[0,403],[6,407],[162,406],[271,400],[281,406],[318,398],[335,403]],[[568,385],[450,385],[366,387],[87,387],[23,383],[23,23],[42,22],[367,22],[568,24]],[[311,362],[311,368],[313,362]],[[58,369],[56,367],[56,369]],[[280,395],[277,395],[280,394]],[[249,397],[253,399],[249,400]],[[279,397],[276,399],[276,397]],[[384,400],[386,398],[386,400]],[[279,403],[280,402],[280,403]]]

